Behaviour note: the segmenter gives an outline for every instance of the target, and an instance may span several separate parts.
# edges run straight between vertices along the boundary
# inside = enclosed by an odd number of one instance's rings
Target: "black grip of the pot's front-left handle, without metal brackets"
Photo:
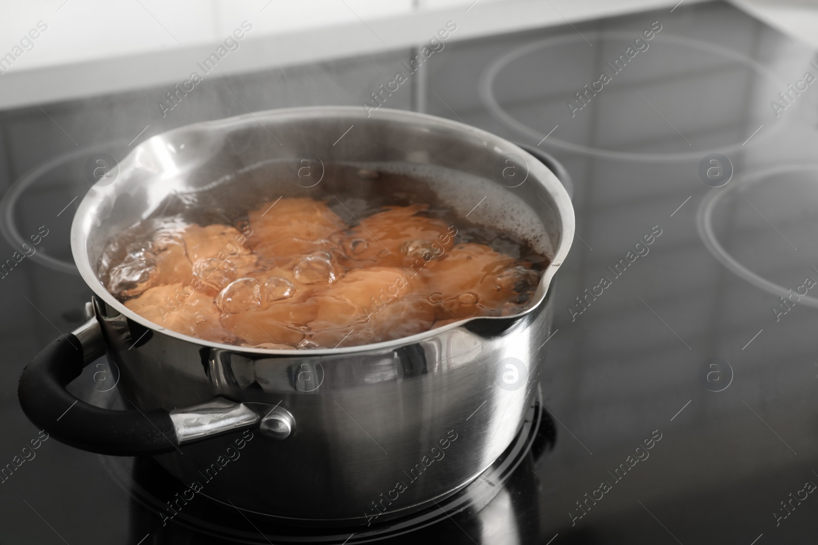
[[[65,390],[83,367],[83,345],[73,333],[57,337],[25,366],[17,395],[35,426],[61,443],[101,454],[135,456],[178,449],[168,411],[100,409]]]

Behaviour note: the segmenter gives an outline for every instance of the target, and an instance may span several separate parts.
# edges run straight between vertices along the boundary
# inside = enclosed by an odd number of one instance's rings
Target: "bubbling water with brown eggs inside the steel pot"
[[[300,164],[255,165],[164,199],[107,244],[102,283],[161,327],[279,349],[528,308],[553,253],[521,199],[428,165],[321,165],[316,184],[293,176]]]

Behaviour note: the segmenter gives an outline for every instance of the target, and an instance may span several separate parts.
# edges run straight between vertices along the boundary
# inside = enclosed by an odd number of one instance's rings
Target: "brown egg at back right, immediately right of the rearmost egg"
[[[424,257],[433,259],[452,248],[456,230],[440,220],[417,216],[426,205],[391,206],[362,218],[361,224],[344,233],[344,266],[411,266]],[[429,261],[427,259],[426,261]]]

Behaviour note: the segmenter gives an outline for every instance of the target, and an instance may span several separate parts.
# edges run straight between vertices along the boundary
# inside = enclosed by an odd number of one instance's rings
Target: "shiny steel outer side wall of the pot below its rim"
[[[157,456],[187,485],[180,496],[191,490],[295,521],[366,524],[452,494],[511,443],[537,390],[550,300],[503,331],[466,324],[337,356],[248,355],[145,334],[122,315],[102,323],[119,390],[143,410],[219,395],[277,404],[294,418],[285,440],[236,431]],[[173,516],[182,505],[167,500]]]

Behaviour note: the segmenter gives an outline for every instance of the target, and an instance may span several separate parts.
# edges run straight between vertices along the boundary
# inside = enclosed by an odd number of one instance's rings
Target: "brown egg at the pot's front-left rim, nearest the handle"
[[[236,337],[222,328],[213,297],[182,283],[149,288],[125,302],[130,310],[154,324],[183,335],[214,342],[234,342]]]

